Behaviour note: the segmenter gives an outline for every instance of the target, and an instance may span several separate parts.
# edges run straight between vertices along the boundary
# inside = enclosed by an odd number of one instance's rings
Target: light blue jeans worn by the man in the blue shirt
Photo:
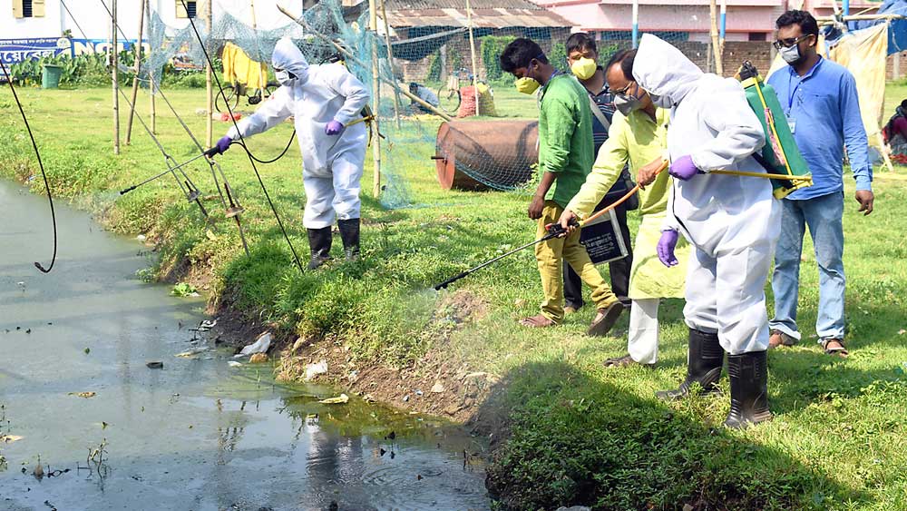
[[[805,226],[813,237],[819,266],[819,310],[815,333],[823,339],[844,339],[844,192],[834,192],[805,201],[783,199],[781,237],[775,251],[775,318],[770,329],[800,339],[796,325],[797,293],[800,286],[800,254]]]

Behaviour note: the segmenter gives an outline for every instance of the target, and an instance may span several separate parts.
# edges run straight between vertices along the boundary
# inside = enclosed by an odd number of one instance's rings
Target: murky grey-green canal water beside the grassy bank
[[[464,458],[481,447],[461,429],[231,368],[230,352],[190,340],[203,300],[136,278],[141,244],[60,205],[61,255],[43,275],[46,200],[0,181],[0,205],[0,509],[489,507],[481,462]]]

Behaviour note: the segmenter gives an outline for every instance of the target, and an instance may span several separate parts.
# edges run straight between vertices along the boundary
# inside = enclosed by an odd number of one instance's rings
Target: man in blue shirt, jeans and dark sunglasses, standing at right
[[[768,78],[785,109],[797,147],[813,173],[813,186],[782,203],[781,237],[775,251],[775,318],[769,321],[769,348],[800,339],[796,324],[800,253],[805,226],[813,237],[819,266],[819,308],[815,331],[825,353],[847,355],[844,347],[844,146],[856,180],[860,210],[873,212],[873,168],[860,116],[856,81],[844,66],[816,53],[819,27],[813,15],[788,11],[775,25],[786,69]]]

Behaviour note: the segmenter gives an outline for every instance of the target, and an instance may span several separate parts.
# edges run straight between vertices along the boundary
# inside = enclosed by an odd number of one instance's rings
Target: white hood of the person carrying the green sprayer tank
[[[702,75],[702,70],[676,47],[655,35],[642,34],[633,78],[649,94],[669,98],[670,105],[678,104],[696,88]]]

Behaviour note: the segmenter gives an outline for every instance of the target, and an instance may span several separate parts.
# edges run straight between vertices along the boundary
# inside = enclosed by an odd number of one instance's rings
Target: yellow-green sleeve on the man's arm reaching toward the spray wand
[[[620,172],[627,164],[629,152],[627,151],[627,118],[619,112],[614,113],[611,127],[608,130],[608,140],[601,144],[599,154],[592,165],[592,172],[586,176],[586,182],[573,196],[567,208],[581,219],[588,217],[599,204],[601,199],[618,181]]]

